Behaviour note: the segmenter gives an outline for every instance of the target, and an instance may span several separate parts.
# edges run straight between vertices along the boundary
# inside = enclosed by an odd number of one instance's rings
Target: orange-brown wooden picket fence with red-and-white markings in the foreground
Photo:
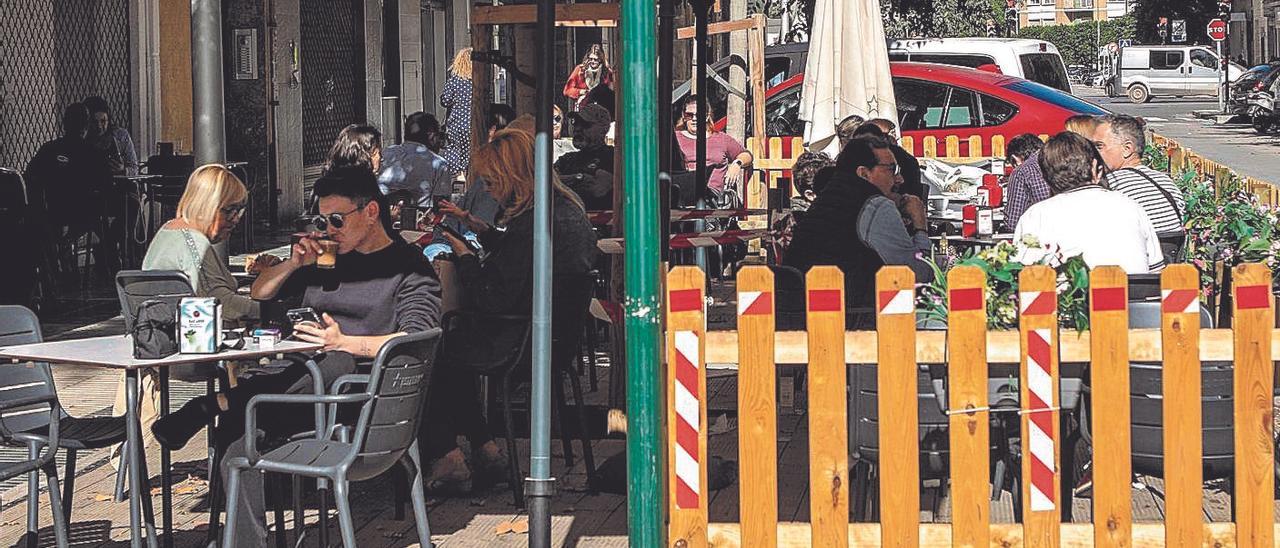
[[[916,330],[914,275],[888,266],[876,278],[877,330],[845,330],[844,275],[829,266],[806,277],[808,332],[774,332],[773,274],[746,266],[737,278],[736,332],[705,332],[704,275],[678,266],[667,277],[668,545],[1275,545],[1272,438],[1274,329],[1271,273],[1234,269],[1234,328],[1201,329],[1198,279],[1190,265],[1161,275],[1161,329],[1129,329],[1125,274],[1091,275],[1092,332],[1057,326],[1056,274],[1020,273],[1020,328],[988,332],[980,269],[948,273],[946,332]],[[1204,522],[1201,511],[1201,361],[1234,362],[1234,522]],[[1093,522],[1062,522],[1059,361],[1091,362]],[[1164,362],[1165,522],[1134,522],[1130,507],[1129,362]],[[709,524],[705,364],[739,364],[740,524]],[[919,522],[916,364],[947,364],[951,524]],[[991,524],[987,365],[1020,364],[1021,516]],[[777,364],[809,374],[810,522],[778,522]],[[846,364],[877,365],[879,522],[850,522]]]

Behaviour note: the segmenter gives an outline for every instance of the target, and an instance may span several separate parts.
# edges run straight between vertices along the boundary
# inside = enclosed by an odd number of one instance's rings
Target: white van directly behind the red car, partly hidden
[[[1057,47],[1030,38],[904,38],[888,41],[888,60],[941,63],[1016,76],[1071,92]]]

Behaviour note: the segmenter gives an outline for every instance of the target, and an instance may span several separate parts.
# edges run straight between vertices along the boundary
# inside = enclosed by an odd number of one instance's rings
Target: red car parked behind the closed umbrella
[[[946,138],[960,140],[960,156],[974,156],[969,138],[982,138],[979,155],[991,155],[991,138],[1005,142],[1023,134],[1055,134],[1068,118],[1076,114],[1108,114],[1102,108],[1074,95],[986,70],[932,63],[890,63],[897,123],[908,137],[911,154],[924,155],[924,138],[937,140],[937,154],[945,155]],[[799,120],[800,88],[797,73],[765,91],[764,108],[769,136],[803,136]],[[905,145],[904,140],[904,145]]]

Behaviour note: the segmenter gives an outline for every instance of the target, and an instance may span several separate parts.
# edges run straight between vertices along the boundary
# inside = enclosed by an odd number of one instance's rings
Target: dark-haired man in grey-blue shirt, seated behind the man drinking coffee
[[[440,123],[426,113],[413,113],[404,119],[404,142],[383,149],[378,187],[384,195],[406,191],[417,205],[431,205],[433,197],[453,192],[453,172],[435,154],[440,143]]]

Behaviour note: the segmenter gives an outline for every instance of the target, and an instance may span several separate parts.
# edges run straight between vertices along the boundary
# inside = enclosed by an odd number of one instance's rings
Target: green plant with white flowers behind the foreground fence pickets
[[[1042,250],[1042,259],[1024,264],[1028,248]],[[1027,239],[1018,245],[1000,242],[995,247],[969,250],[961,256],[947,257],[941,265],[925,261],[933,268],[933,282],[922,284],[916,293],[916,307],[925,319],[947,320],[946,273],[955,266],[977,266],[987,274],[987,328],[1018,329],[1018,275],[1028,265],[1056,264],[1059,324],[1078,330],[1089,328],[1089,268],[1079,256],[1062,257]]]

